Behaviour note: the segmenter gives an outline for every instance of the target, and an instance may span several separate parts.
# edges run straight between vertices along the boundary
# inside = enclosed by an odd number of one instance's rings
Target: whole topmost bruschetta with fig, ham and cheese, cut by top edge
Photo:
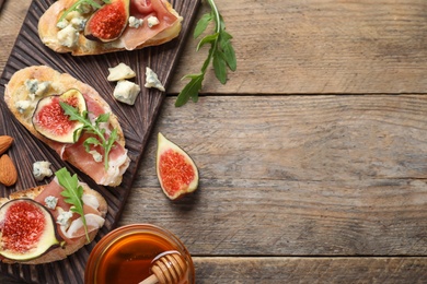
[[[58,0],[39,19],[38,35],[57,52],[100,55],[170,42],[182,20],[166,0]]]

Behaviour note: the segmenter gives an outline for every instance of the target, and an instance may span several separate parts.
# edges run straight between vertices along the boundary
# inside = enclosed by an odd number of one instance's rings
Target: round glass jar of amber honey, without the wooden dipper
[[[194,284],[192,257],[182,241],[166,229],[135,224],[118,227],[104,236],[89,256],[84,283],[140,283],[152,275],[160,256],[178,253],[186,263],[180,284]]]

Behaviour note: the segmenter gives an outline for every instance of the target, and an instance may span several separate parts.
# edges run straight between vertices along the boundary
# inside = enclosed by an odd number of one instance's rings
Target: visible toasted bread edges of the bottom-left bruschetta
[[[101,213],[101,216],[105,218],[108,205],[105,201],[105,199],[95,190],[91,189],[86,184],[81,182],[80,184],[83,187],[84,194],[94,196],[100,204],[97,208],[97,211]],[[34,188],[30,188],[22,191],[13,192],[9,196],[9,198],[1,198],[0,199],[0,206],[3,205],[5,202],[13,200],[13,199],[20,199],[20,198],[30,198],[35,199],[43,190],[45,189],[45,186],[38,186]],[[100,229],[95,229],[89,233],[90,241],[92,241],[97,232]],[[80,248],[82,248],[84,245],[86,245],[86,237],[82,236],[79,238],[73,239],[72,242],[66,244],[64,247],[55,247],[49,249],[46,253],[42,255],[41,257],[27,261],[15,261],[10,259],[3,259],[3,263],[21,263],[21,264],[42,264],[42,263],[49,263],[58,260],[62,260],[67,258],[68,256],[74,253]]]

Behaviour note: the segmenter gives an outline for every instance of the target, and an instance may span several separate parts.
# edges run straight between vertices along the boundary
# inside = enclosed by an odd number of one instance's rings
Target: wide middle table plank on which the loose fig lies
[[[166,99],[122,224],[175,232],[204,256],[425,256],[427,96]],[[184,147],[198,191],[170,202],[155,134]]]

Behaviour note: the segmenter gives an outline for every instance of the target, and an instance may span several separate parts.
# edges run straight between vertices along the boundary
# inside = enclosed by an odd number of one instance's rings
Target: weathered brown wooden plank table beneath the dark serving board
[[[207,52],[188,38],[120,225],[175,233],[197,283],[427,283],[427,1],[217,4],[238,71],[175,108]],[[0,71],[28,5],[3,5]],[[180,202],[159,131],[199,168]]]

